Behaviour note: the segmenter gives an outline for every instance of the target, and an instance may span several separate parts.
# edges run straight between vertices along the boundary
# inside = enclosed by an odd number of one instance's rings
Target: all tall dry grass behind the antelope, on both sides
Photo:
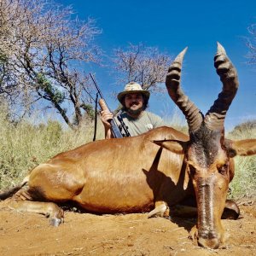
[[[0,189],[20,183],[26,173],[55,154],[76,148],[92,141],[94,125],[84,122],[77,131],[64,129],[59,122],[48,120],[40,123],[31,119],[10,122],[8,109],[0,106]],[[42,120],[43,121],[43,120]],[[166,119],[172,127],[187,132],[178,115]],[[34,124],[37,125],[34,125]],[[99,121],[96,139],[103,138]],[[236,126],[228,137],[245,139],[256,137],[256,122]],[[256,156],[236,157],[236,175],[230,183],[230,197],[254,196],[256,191]]]

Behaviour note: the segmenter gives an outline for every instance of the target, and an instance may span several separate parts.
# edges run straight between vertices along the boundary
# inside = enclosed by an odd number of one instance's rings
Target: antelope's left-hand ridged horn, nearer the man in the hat
[[[183,112],[189,125],[189,132],[196,131],[202,123],[202,114],[193,102],[185,96],[180,86],[181,68],[183,64],[183,56],[188,47],[177,55],[176,59],[168,69],[166,75],[166,88],[172,101],[175,102],[178,108]]]

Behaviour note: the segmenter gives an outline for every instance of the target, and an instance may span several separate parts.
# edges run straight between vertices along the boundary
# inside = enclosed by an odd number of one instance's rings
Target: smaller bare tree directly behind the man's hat
[[[171,57],[161,54],[156,47],[129,44],[126,50],[114,49],[113,63],[115,72],[119,74],[119,83],[134,81],[144,90],[161,91]]]

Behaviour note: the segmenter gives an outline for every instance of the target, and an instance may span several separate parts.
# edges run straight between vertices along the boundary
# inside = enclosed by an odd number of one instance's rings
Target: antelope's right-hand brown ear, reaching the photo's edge
[[[256,154],[256,139],[247,139],[240,141],[225,140],[225,146],[228,149],[230,157],[236,155]]]

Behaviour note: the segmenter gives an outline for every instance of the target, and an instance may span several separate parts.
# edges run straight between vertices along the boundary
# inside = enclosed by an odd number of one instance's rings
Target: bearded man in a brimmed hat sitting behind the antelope
[[[126,84],[125,90],[120,92],[117,96],[123,107],[119,116],[123,119],[131,137],[165,125],[163,119],[159,116],[145,111],[148,107],[149,96],[149,91],[143,90],[141,85],[135,82]],[[110,129],[111,125],[109,124],[109,119],[113,118],[116,123],[120,125],[119,119],[116,116],[113,117],[113,113],[109,113],[106,110],[101,112],[106,138],[113,137]]]

